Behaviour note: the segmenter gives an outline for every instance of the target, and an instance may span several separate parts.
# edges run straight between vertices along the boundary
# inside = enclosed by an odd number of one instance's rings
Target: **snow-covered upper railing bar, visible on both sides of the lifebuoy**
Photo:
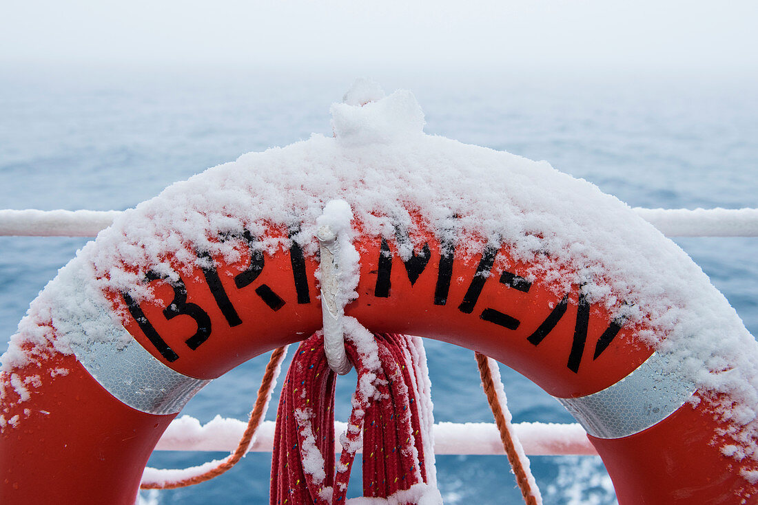
[[[634,211],[669,237],[758,237],[758,209]],[[0,236],[94,237],[120,210],[0,210]]]

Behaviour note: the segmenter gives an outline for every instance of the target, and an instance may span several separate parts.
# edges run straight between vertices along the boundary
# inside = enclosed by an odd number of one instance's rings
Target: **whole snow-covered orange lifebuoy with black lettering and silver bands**
[[[527,376],[622,505],[756,503],[758,351],[686,254],[593,185],[375,95],[334,105],[334,137],[172,185],[61,270],[3,358],[0,501],[133,503],[205,382],[321,328],[318,217],[342,199],[347,317]]]

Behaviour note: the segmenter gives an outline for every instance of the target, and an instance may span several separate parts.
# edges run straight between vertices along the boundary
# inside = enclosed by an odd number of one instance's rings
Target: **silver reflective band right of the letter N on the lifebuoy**
[[[622,438],[655,426],[684,405],[697,388],[670,354],[653,353],[634,372],[597,393],[556,398],[597,438]]]

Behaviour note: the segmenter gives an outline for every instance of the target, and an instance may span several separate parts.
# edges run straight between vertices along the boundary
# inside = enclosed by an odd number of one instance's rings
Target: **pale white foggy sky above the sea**
[[[346,64],[754,73],[758,2],[25,0],[0,64]]]

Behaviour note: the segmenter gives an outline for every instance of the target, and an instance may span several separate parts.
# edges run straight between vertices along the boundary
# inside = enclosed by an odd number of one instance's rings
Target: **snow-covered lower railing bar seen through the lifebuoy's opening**
[[[164,432],[157,450],[234,450],[245,431],[246,422],[216,416],[205,425],[194,417],[174,419]],[[513,425],[526,454],[531,456],[597,455],[594,447],[578,424],[521,422]],[[335,432],[344,432],[345,422],[335,422]],[[335,445],[340,451],[340,437]],[[274,444],[274,422],[265,421],[250,445],[253,452],[271,452]],[[500,433],[493,423],[440,422],[434,425],[435,454],[505,454]]]

